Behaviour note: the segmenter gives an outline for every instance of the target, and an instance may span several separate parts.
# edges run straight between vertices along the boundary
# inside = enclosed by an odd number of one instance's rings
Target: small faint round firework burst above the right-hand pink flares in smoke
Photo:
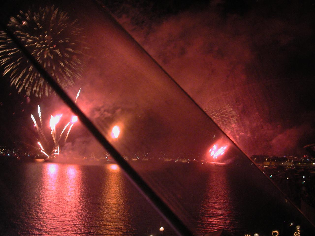
[[[221,128],[230,129],[234,124],[237,123],[238,115],[230,105],[219,108],[206,108],[205,112]]]

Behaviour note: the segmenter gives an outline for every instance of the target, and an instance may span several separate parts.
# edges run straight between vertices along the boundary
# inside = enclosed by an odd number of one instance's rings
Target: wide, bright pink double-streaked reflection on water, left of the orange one
[[[83,232],[82,171],[77,165],[48,163],[44,167],[40,224],[49,235]]]

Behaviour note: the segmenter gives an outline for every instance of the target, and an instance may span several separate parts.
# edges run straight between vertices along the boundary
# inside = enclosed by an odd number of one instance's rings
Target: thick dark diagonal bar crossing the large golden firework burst
[[[101,132],[95,127],[92,121],[77,107],[72,99],[66,94],[66,92],[57,84],[56,81],[43,69],[43,67],[31,56],[31,53],[27,51],[24,45],[15,37],[15,35],[9,30],[7,25],[3,24],[0,20],[0,26],[6,32],[6,34],[12,39],[16,46],[25,54],[26,58],[34,65],[38,72],[44,77],[59,97],[70,107],[73,113],[75,113],[83,125],[93,134],[93,136],[100,142],[100,144],[112,155],[117,164],[125,171],[130,181],[140,191],[140,193],[149,201],[152,206],[160,213],[166,222],[174,229],[174,231],[180,236],[192,236],[192,232],[186,227],[186,225],[170,210],[170,208],[160,199],[157,194],[149,187],[149,185],[140,177],[140,175],[124,160],[124,158],[118,153],[118,151],[106,140]]]

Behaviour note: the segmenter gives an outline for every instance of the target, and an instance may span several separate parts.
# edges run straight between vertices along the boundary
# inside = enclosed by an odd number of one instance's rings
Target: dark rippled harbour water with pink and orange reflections
[[[162,166],[147,161],[139,170],[196,235],[271,234],[288,223],[231,167]],[[158,235],[160,226],[175,235],[116,164],[6,162],[0,190],[1,235]]]

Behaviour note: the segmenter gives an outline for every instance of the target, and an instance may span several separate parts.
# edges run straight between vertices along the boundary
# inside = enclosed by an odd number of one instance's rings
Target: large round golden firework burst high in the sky
[[[81,78],[83,71],[84,36],[77,20],[71,21],[64,11],[54,6],[30,8],[11,17],[9,29],[24,44],[31,55],[62,87],[72,86]],[[20,93],[23,89],[29,96],[48,96],[51,87],[37,72],[23,53],[3,31],[0,32],[0,66],[4,75],[11,79]]]

